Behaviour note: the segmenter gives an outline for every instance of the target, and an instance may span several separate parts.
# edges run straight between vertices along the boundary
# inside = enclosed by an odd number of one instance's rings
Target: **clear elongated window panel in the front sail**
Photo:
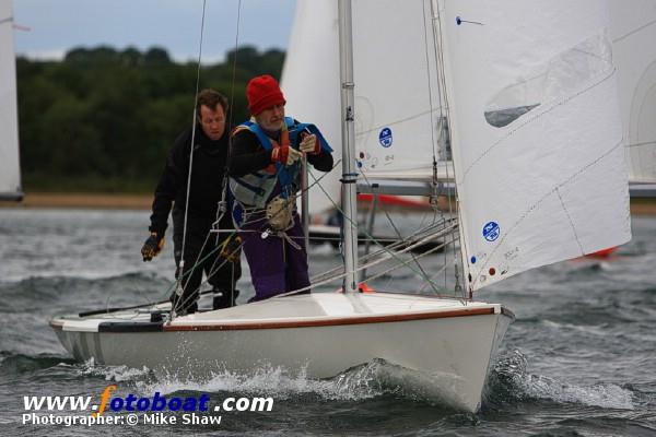
[[[595,35],[551,58],[528,78],[515,78],[488,102],[485,120],[503,128],[540,105],[577,93],[612,68],[610,40],[606,34]]]

